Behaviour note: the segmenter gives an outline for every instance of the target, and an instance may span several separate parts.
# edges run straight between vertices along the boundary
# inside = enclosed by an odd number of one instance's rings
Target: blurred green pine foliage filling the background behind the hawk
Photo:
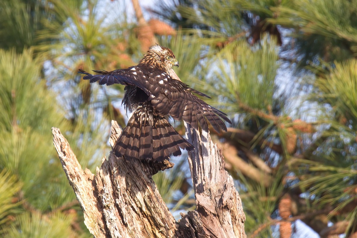
[[[136,64],[137,23],[121,1],[3,0],[0,10],[0,236],[91,237],[51,127],[95,171],[110,120],[125,125],[123,87],[90,85],[77,69]],[[248,236],[286,237],[278,224],[289,221],[299,237],[297,218],[320,234],[345,222],[345,237],[355,235],[357,3],[173,0],[151,13],[176,29],[156,37],[174,51],[180,79],[232,119],[216,140],[241,159],[226,169]],[[154,177],[171,211],[194,204],[185,161]]]

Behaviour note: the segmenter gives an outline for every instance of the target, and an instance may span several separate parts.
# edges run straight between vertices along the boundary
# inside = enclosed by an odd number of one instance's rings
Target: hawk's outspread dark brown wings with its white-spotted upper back
[[[195,129],[198,128],[199,123],[205,131],[208,131],[205,118],[217,132],[220,132],[221,129],[227,130],[221,118],[231,123],[225,113],[211,107],[193,93],[205,97],[208,97],[207,95],[188,87],[179,80],[172,79],[170,75],[161,70],[139,65],[111,72],[95,72],[100,75],[92,75],[83,70],[79,71],[79,73],[86,75],[83,79],[90,80],[91,83],[97,81],[100,85],[120,83],[141,88],[149,96],[148,100],[151,100],[157,115],[171,115],[178,121],[183,119]]]

